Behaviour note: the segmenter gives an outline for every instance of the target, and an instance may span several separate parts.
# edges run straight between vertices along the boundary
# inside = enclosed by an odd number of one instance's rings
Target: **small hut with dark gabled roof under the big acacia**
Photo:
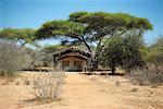
[[[86,71],[90,65],[91,53],[78,48],[66,48],[53,53],[53,68],[57,71]]]

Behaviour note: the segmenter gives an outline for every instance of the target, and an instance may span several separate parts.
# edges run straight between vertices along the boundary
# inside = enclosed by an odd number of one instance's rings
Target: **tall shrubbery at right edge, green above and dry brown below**
[[[163,83],[163,37],[147,49],[141,49],[146,60],[146,68],[133,70],[129,73],[131,78],[139,84],[162,84]]]

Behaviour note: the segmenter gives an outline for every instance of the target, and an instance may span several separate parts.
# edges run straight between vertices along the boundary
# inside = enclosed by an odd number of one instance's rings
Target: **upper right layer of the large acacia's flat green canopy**
[[[87,24],[88,29],[95,32],[103,32],[106,28],[106,34],[112,34],[115,31],[122,29],[152,29],[152,25],[147,19],[131,16],[126,13],[104,13],[104,12],[76,12],[71,14],[70,20]]]

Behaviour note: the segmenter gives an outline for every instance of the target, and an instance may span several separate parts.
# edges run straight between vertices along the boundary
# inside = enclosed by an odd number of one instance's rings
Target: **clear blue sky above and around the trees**
[[[163,35],[163,0],[0,0],[0,28],[39,28],[47,21],[66,20],[77,11],[122,12],[146,17],[153,25],[153,31],[145,34],[148,44]],[[47,43],[54,41],[42,41]]]

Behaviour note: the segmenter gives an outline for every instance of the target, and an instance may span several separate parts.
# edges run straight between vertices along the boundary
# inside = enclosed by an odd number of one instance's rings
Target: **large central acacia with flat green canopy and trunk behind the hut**
[[[45,23],[37,32],[37,39],[71,38],[71,44],[84,44],[92,53],[91,43],[96,43],[96,51],[92,55],[92,65],[98,68],[99,51],[102,50],[103,38],[112,36],[125,36],[135,31],[139,36],[152,29],[147,19],[131,16],[125,13],[104,12],[75,12],[66,21],[51,21]]]

